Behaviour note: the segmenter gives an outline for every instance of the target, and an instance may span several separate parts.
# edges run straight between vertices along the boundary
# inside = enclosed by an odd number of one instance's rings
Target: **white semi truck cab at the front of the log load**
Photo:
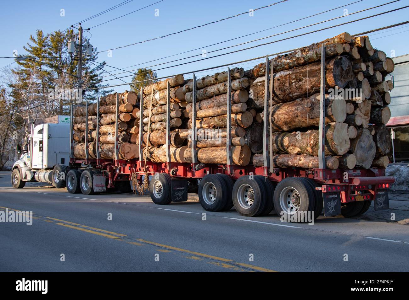
[[[65,173],[70,162],[70,124],[31,125],[25,149],[17,146],[22,156],[13,164],[11,184],[21,189],[28,182],[48,182],[65,187]]]

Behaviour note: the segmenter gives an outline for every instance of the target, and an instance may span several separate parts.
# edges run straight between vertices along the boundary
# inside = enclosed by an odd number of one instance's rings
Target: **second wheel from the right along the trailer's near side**
[[[241,176],[234,183],[233,204],[236,211],[242,216],[259,216],[267,204],[266,198],[265,185],[258,176],[254,176],[253,179],[250,179],[249,176]]]

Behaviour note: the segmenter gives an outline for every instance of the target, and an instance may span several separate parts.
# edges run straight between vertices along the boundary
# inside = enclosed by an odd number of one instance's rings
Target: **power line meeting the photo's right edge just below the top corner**
[[[230,52],[227,52],[227,53],[221,53],[221,54],[218,54],[218,55],[216,55],[216,56],[206,57],[206,58],[202,58],[202,59],[199,59],[199,60],[192,60],[192,61],[189,61],[189,62],[183,62],[183,63],[180,63],[180,64],[175,64],[175,65],[172,65],[172,66],[163,67],[163,68],[160,68],[160,69],[155,69],[155,70],[152,70],[152,71],[159,71],[159,70],[163,70],[163,69],[169,69],[169,68],[173,68],[173,67],[178,67],[178,66],[181,66],[181,65],[184,65],[184,64],[190,64],[190,63],[192,63],[192,62],[203,61],[203,60],[207,60],[207,59],[211,59],[211,58],[216,58],[216,57],[219,57],[219,56],[224,56],[224,55],[228,55],[228,54],[232,54],[232,53],[236,53],[236,52],[240,52],[240,51],[245,51],[245,50],[249,50],[249,49],[253,49],[253,48],[265,46],[265,45],[268,45],[268,44],[273,44],[273,43],[276,43],[276,42],[281,42],[281,41],[284,41],[284,40],[290,40],[290,39],[292,39],[292,38],[297,38],[297,37],[299,37],[299,36],[305,36],[305,35],[308,35],[308,34],[311,34],[311,33],[315,33],[315,32],[319,32],[319,31],[323,31],[323,30],[326,30],[326,29],[331,29],[331,28],[343,26],[343,25],[345,25],[345,24],[351,24],[351,23],[354,23],[354,22],[358,22],[358,21],[361,21],[361,20],[366,20],[366,19],[373,18],[373,17],[376,17],[376,16],[381,16],[381,15],[384,15],[384,14],[386,14],[386,13],[391,13],[391,12],[393,12],[393,11],[398,11],[398,10],[400,10],[400,9],[405,9],[405,8],[408,8],[408,7],[409,7],[409,5],[407,5],[407,6],[405,6],[405,7],[400,7],[400,8],[398,8],[398,9],[393,9],[393,10],[390,10],[390,11],[385,11],[385,12],[382,12],[382,13],[377,13],[377,14],[375,14],[375,15],[368,16],[368,17],[364,17],[364,18],[360,18],[360,19],[357,19],[357,20],[353,20],[353,21],[349,21],[349,22],[344,22],[344,23],[337,24],[337,25],[332,25],[332,26],[329,26],[329,27],[317,29],[317,30],[314,30],[314,31],[306,32],[306,33],[301,33],[301,34],[298,34],[298,35],[296,35],[296,36],[291,36],[291,37],[288,37],[288,38],[283,38],[283,39],[281,39],[281,40],[275,40],[275,41],[272,41],[272,42],[266,42],[266,43],[258,44],[258,45],[252,46],[252,47],[247,47],[247,48],[243,48],[243,49],[238,49],[238,50],[230,51]],[[129,77],[129,76],[130,76],[130,75],[128,75],[128,76],[121,76],[121,77],[119,77],[119,78],[125,78],[125,77]],[[107,79],[107,80],[102,80],[101,82],[110,81],[110,80],[115,80],[115,78]]]

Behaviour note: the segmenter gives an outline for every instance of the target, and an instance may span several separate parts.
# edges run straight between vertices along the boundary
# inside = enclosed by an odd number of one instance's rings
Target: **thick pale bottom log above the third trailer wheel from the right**
[[[233,163],[247,166],[250,162],[251,151],[247,145],[231,147]],[[201,148],[197,150],[198,161],[204,164],[227,164],[226,146]],[[186,162],[192,162],[192,151],[184,151]]]

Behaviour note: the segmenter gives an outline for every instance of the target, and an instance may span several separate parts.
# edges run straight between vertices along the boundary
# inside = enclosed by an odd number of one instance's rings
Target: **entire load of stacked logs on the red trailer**
[[[393,84],[386,81],[385,76],[393,71],[393,61],[384,52],[373,49],[367,36],[351,37],[348,33],[270,60],[273,93],[268,122],[272,129],[274,167],[318,167],[322,44],[326,56],[326,168],[386,167],[391,139],[385,124],[390,118],[387,105],[391,101],[389,91]],[[202,163],[227,163],[227,76],[227,71],[223,71],[196,80],[196,154]],[[233,163],[240,166],[263,165],[265,76],[265,63],[247,71],[243,68],[230,70],[231,154]],[[191,162],[194,82],[185,80],[182,75],[143,89],[142,159],[166,162],[168,83],[171,161]],[[137,145],[139,140],[139,106],[135,105],[138,95],[130,93],[120,95],[119,109],[118,140],[123,148],[121,156],[127,159],[137,158],[137,151],[134,154],[127,145]],[[114,97],[115,94],[101,98],[100,151],[106,151],[106,157],[112,156],[112,141],[115,142],[112,136],[115,135],[112,124],[116,117]],[[91,141],[96,137],[97,122],[95,113],[90,113],[92,105],[88,109]],[[85,145],[81,144],[85,137],[84,110],[79,108],[75,112],[74,139],[78,142],[79,158],[85,155]],[[94,147],[91,142],[88,151],[92,155],[95,155]]]

